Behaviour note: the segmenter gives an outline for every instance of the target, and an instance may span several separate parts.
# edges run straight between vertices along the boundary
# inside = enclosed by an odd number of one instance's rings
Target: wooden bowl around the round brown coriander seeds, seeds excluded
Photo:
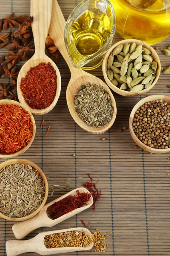
[[[133,131],[133,117],[136,113],[136,110],[138,110],[138,108],[140,108],[145,102],[149,102],[150,100],[156,100],[156,99],[163,99],[164,101],[168,102],[170,104],[170,97],[168,96],[164,96],[164,95],[151,95],[148,96],[142,100],[140,100],[133,108],[132,112],[130,113],[130,118],[129,118],[129,129],[130,129],[130,134],[133,138],[133,140],[136,142],[137,145],[139,145],[139,147],[143,148],[144,150],[147,150],[151,153],[157,153],[157,154],[162,154],[162,153],[167,153],[170,152],[170,148],[166,148],[166,149],[157,149],[157,148],[151,148],[147,145],[144,145],[144,143],[142,143],[138,137],[136,137],[136,134]]]

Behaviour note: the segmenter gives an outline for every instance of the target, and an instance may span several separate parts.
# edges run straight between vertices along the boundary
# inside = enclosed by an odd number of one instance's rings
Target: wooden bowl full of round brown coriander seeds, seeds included
[[[152,95],[133,108],[129,129],[133,140],[151,153],[170,151],[170,97]]]

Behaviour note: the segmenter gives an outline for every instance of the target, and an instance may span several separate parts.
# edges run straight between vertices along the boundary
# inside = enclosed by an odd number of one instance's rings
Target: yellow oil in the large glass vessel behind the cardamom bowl
[[[170,35],[170,0],[110,0],[125,38],[156,44]]]

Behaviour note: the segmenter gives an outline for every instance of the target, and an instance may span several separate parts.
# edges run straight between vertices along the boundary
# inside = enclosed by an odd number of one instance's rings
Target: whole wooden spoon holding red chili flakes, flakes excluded
[[[52,9],[52,0],[31,0],[31,16],[33,16],[34,20],[32,23],[32,32],[34,35],[34,43],[35,43],[35,53],[31,59],[29,59],[21,68],[20,73],[17,79],[17,93],[18,99],[20,103],[25,105],[32,114],[35,115],[43,115],[51,111],[56,105],[60,91],[61,91],[61,76],[59,70],[54,63],[47,55],[45,55],[45,41],[48,35],[48,28],[51,20],[51,9]],[[23,97],[23,93],[20,90],[21,79],[26,77],[27,72],[31,67],[35,67],[41,62],[48,63],[50,62],[54,70],[56,70],[57,74],[57,91],[54,101],[48,108],[44,109],[32,109],[26,103],[26,100]]]

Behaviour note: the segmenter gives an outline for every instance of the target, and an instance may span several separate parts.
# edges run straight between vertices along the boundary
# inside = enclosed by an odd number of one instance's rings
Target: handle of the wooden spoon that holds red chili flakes
[[[32,32],[34,35],[35,54],[45,54],[45,41],[51,20],[52,0],[31,0],[33,16]]]

